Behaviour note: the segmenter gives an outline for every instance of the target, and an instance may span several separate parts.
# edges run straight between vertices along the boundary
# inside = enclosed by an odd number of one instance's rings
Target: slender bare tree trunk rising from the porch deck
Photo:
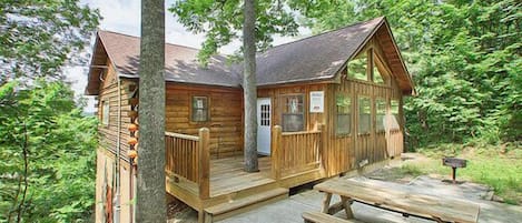
[[[256,2],[245,0],[243,24],[245,98],[245,171],[257,172]]]

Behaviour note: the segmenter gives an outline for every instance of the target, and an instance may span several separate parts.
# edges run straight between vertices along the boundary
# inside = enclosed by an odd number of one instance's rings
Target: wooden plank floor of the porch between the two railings
[[[210,161],[210,196],[242,191],[245,189],[275,182],[270,179],[270,158],[258,159],[259,172],[244,171],[243,156],[233,156]]]

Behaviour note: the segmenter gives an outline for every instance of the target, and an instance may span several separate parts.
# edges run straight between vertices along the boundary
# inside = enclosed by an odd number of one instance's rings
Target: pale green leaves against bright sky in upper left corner
[[[0,84],[20,77],[59,77],[98,26],[99,13],[79,0],[0,1]],[[85,61],[83,61],[85,62]]]

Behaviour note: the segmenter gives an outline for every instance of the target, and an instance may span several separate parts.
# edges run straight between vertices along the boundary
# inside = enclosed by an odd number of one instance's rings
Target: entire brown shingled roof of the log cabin
[[[335,81],[338,71],[377,34],[385,45],[386,60],[404,93],[413,91],[413,82],[393,40],[384,18],[360,22],[338,30],[308,37],[274,47],[257,54],[257,85],[294,82]],[[165,44],[165,79],[180,83],[195,83],[240,88],[242,64],[227,65],[226,58],[216,55],[207,68],[197,63],[197,49]],[[124,78],[139,78],[139,38],[98,31],[95,53],[89,71],[87,94],[98,93],[97,64],[108,57],[117,73]]]

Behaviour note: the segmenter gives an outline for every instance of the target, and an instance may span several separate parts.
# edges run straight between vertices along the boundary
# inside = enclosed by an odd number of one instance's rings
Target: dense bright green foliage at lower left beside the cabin
[[[86,222],[97,120],[61,82],[0,87],[0,222]]]

